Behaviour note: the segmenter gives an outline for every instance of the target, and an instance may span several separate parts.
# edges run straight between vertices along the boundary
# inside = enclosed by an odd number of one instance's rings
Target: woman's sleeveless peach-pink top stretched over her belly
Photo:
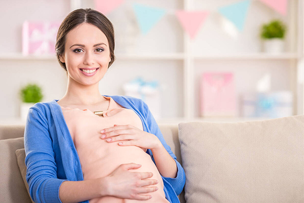
[[[152,195],[149,200],[122,199],[114,196],[103,196],[90,199],[90,203],[135,203],[135,202],[155,202],[161,203],[169,201],[165,197],[164,183],[162,177],[151,159],[146,153],[146,149],[137,146],[119,146],[118,142],[108,143],[100,138],[100,130],[112,127],[114,124],[131,124],[143,130],[139,116],[132,110],[122,108],[111,97],[108,110],[103,112],[103,117],[95,115],[92,111],[84,109],[71,109],[61,107],[62,113],[78,152],[84,180],[96,179],[108,176],[119,165],[123,163],[137,163],[141,167],[130,172],[151,172],[158,184],[153,187],[159,189],[155,192],[146,193]],[[150,186],[151,187],[151,186]]]

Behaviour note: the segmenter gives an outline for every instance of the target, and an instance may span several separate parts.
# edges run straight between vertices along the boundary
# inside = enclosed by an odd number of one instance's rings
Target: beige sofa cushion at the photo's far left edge
[[[24,148],[23,138],[0,140],[0,202],[31,203],[15,154],[21,148]]]

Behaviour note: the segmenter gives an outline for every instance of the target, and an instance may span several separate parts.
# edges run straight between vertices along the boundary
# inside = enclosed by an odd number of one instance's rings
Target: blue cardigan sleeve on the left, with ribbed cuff
[[[26,181],[34,202],[59,202],[59,187],[66,180],[57,178],[55,154],[46,116],[30,108],[24,130]]]

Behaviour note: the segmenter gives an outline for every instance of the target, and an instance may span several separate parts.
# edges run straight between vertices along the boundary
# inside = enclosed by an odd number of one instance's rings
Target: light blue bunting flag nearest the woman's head
[[[133,4],[133,9],[141,31],[146,34],[166,13],[165,9],[157,9],[140,4]]]

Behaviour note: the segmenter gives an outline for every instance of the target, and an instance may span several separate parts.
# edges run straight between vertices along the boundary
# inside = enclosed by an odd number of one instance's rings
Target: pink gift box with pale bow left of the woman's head
[[[22,26],[22,54],[55,54],[60,22],[28,22]]]

